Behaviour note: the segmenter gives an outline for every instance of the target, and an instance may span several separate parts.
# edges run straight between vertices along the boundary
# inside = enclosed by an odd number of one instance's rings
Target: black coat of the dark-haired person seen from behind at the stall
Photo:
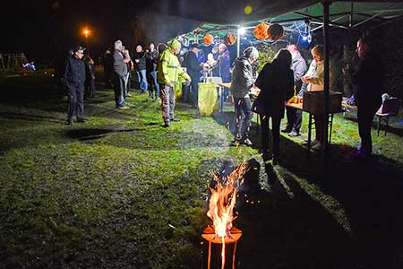
[[[285,101],[294,93],[294,74],[289,66],[281,65],[277,60],[264,65],[255,84],[261,89],[253,104],[255,111],[261,115],[283,117]]]

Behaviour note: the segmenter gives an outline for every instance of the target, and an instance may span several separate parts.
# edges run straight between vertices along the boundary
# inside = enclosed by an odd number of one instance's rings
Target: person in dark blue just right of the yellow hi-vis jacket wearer
[[[199,45],[193,43],[191,49],[186,54],[186,70],[187,74],[190,75],[192,79],[190,95],[192,100],[192,107],[199,108],[199,82],[201,77],[201,65],[197,60],[197,55],[199,54]]]

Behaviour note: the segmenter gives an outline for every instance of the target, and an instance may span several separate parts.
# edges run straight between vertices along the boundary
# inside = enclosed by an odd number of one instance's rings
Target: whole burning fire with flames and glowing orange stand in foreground
[[[210,269],[211,244],[222,244],[221,269],[226,265],[226,245],[234,243],[232,255],[232,268],[235,269],[236,244],[242,236],[242,231],[232,226],[236,219],[233,214],[236,205],[238,188],[244,183],[245,164],[242,163],[227,177],[219,177],[211,173],[215,181],[215,187],[210,187],[210,203],[207,215],[213,221],[212,226],[203,230],[201,237],[209,242],[209,255],[207,268]]]

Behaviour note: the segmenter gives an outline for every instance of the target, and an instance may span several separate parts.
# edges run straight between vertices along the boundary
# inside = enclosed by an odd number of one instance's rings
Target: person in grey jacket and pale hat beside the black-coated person
[[[253,117],[252,103],[249,91],[253,88],[252,64],[259,57],[259,52],[254,47],[244,50],[244,55],[236,58],[232,72],[232,82],[229,91],[234,97],[236,110],[236,136],[233,143],[252,145],[249,140],[249,128]]]

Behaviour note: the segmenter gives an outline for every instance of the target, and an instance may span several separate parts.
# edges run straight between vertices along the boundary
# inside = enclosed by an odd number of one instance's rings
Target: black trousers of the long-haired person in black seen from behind
[[[269,118],[260,115],[262,126],[262,152],[269,152]],[[271,116],[271,133],[273,135],[273,156],[279,157],[279,125],[281,117]]]

